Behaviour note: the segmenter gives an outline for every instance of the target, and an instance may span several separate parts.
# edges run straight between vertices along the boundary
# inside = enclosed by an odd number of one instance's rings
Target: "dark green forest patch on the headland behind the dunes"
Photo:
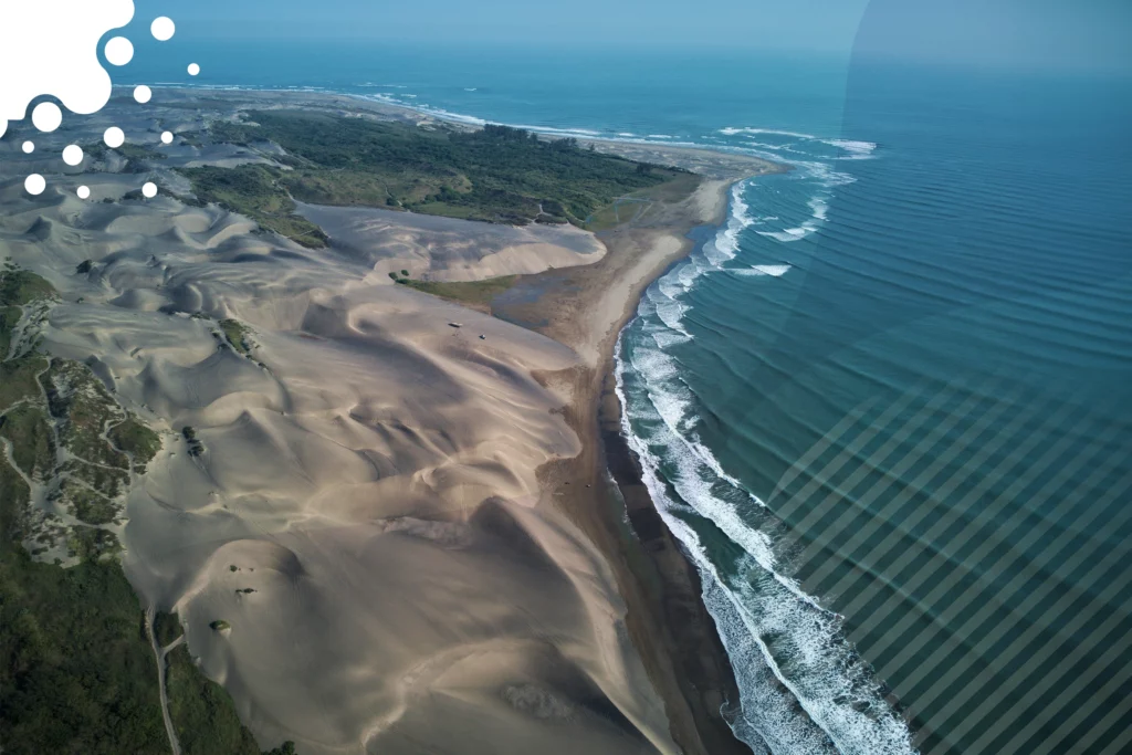
[[[252,111],[211,128],[217,143],[255,148],[277,165],[195,168],[181,172],[201,201],[246,214],[264,229],[311,248],[325,246],[294,200],[408,209],[489,223],[573,223],[619,197],[685,173],[547,139],[522,129],[420,128],[298,111]]]

